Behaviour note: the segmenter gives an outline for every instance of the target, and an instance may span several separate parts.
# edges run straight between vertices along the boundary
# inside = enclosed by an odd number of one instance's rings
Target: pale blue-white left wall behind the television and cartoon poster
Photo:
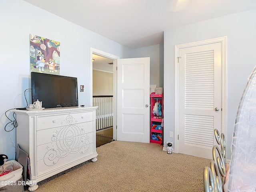
[[[78,86],[84,85],[84,92],[78,91],[78,100],[85,106],[90,104],[90,47],[120,58],[130,57],[131,50],[23,0],[0,1],[0,26],[0,154],[12,160],[15,129],[4,131],[9,122],[4,114],[26,107],[24,90],[31,88],[29,34],[60,42],[60,75],[77,77]],[[30,104],[31,91],[26,95]]]

